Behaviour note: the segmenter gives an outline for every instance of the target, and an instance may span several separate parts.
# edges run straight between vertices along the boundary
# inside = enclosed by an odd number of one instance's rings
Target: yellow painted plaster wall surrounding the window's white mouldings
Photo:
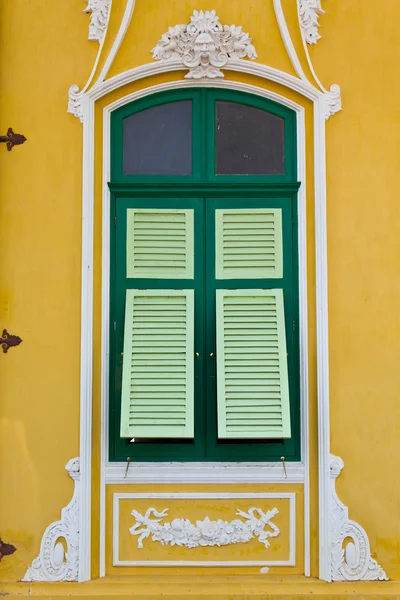
[[[187,22],[188,0],[137,0],[111,75],[150,62],[149,50],[170,25]],[[114,0],[104,49],[123,14]],[[296,48],[294,0],[284,9]],[[294,74],[272,0],[216,0],[223,23],[243,25],[259,62]],[[17,552],[0,562],[15,581],[37,555],[42,532],[59,518],[72,482],[64,471],[79,454],[79,352],[82,126],[67,114],[67,90],[88,77],[97,43],[87,40],[81,0],[0,3],[0,134],[12,126],[28,141],[0,145],[0,330],[23,343],[0,354],[0,537]],[[398,356],[400,242],[398,151],[400,83],[398,0],[327,0],[322,39],[311,49],[325,85],[342,87],[343,112],[327,125],[328,264],[332,451],[345,461],[337,489],[350,518],[369,535],[373,555],[400,579]],[[107,52],[103,53],[104,57]],[[101,61],[101,63],[102,63]],[[301,54],[302,65],[306,66]],[[100,65],[101,65],[100,63]],[[132,84],[96,108],[93,567],[98,572],[100,435],[101,108],[114,97],[161,81]],[[226,78],[282,90],[255,77]],[[311,106],[307,152],[313,151]],[[312,572],[317,574],[317,440],[312,167],[307,172],[312,460]]]

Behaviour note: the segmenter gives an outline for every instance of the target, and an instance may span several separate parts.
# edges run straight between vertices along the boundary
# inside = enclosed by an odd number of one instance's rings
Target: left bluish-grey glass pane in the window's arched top
[[[191,172],[191,100],[160,104],[124,119],[124,175],[190,175]]]

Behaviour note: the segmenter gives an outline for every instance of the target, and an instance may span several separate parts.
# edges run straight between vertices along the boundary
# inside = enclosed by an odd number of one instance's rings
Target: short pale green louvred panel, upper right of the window
[[[216,278],[282,277],[282,211],[216,210]]]

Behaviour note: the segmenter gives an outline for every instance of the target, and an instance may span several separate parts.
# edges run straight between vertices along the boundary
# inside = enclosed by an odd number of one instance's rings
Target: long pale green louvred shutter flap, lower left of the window
[[[193,290],[127,290],[121,437],[193,437]]]

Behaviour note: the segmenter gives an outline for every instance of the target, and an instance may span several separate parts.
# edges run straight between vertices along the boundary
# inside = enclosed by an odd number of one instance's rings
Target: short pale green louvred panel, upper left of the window
[[[193,210],[127,211],[127,277],[193,279]]]

